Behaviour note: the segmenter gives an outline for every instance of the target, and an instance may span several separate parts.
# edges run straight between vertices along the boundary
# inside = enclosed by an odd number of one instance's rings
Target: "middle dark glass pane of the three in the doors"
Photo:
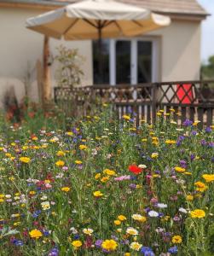
[[[116,83],[130,84],[130,41],[116,42]]]

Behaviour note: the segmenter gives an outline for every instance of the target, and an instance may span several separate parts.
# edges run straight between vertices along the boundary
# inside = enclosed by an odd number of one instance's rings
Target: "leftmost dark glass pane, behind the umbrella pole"
[[[109,84],[109,40],[93,41],[94,84]]]

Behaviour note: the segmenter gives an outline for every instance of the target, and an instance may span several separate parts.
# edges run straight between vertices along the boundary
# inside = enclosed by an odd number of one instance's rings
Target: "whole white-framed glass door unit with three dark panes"
[[[158,47],[153,39],[105,39],[98,75],[99,52],[93,43],[94,84],[141,84],[155,82],[158,78]]]

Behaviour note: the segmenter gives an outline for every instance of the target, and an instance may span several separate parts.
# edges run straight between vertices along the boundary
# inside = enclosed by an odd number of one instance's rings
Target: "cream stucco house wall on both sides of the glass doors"
[[[38,97],[36,61],[42,60],[43,35],[25,27],[28,17],[41,13],[32,9],[0,9],[0,106],[5,90],[14,86],[20,100],[24,96],[24,80],[27,67],[31,70],[30,95]],[[194,80],[200,77],[200,21],[172,20],[171,26],[148,34],[158,38],[159,81]],[[56,46],[66,44],[78,48],[84,55],[83,84],[92,84],[91,41],[62,42],[50,39],[50,50],[56,53]],[[158,53],[156,53],[158,54]],[[55,85],[55,64],[51,67],[52,84]]]

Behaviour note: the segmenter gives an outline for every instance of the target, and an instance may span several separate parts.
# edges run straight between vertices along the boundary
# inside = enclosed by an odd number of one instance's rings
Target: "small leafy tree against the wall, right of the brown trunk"
[[[73,87],[81,83],[84,76],[82,65],[84,57],[78,55],[78,49],[67,49],[61,45],[58,49],[58,55],[55,60],[59,63],[55,78],[61,87]]]

